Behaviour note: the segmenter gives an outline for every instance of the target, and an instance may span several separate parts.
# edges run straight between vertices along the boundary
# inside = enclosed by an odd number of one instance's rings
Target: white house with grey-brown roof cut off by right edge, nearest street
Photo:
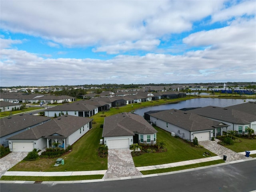
[[[251,106],[254,106],[254,104]],[[236,131],[238,134],[247,134],[247,128],[256,127],[256,115],[244,112],[241,109],[236,110],[236,107],[233,107],[234,106],[222,108],[207,106],[189,110],[189,112],[228,124],[229,126],[227,127],[226,132],[232,130]]]

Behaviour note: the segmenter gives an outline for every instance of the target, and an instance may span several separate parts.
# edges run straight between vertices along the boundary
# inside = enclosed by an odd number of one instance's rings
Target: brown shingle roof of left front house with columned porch
[[[67,138],[79,128],[92,121],[91,118],[64,115],[12,136],[11,140],[37,140],[39,138]]]

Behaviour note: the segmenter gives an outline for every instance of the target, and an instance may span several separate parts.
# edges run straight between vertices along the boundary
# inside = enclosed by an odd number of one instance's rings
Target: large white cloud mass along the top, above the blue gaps
[[[67,47],[96,45],[100,50],[170,38],[190,30],[193,21],[221,5],[222,1],[3,1],[1,27]],[[147,46],[144,42],[142,48]]]

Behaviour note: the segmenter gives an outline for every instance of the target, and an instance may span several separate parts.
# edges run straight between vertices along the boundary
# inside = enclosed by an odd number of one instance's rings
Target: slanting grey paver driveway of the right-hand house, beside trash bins
[[[208,141],[201,141],[198,143],[200,145],[204,146],[204,148],[208,149],[209,151],[217,154],[221,158],[223,158],[223,156],[226,155],[227,156],[226,162],[243,160],[243,159],[248,158],[242,154],[236,153],[236,152],[218,144],[218,142],[220,142],[220,140],[215,139],[215,141],[208,140]]]

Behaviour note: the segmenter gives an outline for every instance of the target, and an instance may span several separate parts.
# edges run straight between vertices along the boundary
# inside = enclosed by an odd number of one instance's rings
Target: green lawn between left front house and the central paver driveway
[[[53,166],[57,158],[43,158],[36,161],[24,161],[9,171],[85,171],[108,169],[107,158],[98,157],[98,146],[102,138],[102,128],[93,128],[73,144],[69,154],[61,156],[64,165]]]

